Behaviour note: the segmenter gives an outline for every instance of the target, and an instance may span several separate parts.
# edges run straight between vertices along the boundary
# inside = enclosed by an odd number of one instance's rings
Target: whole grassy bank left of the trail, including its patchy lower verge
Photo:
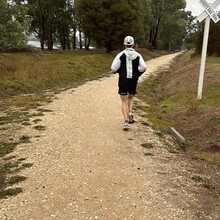
[[[146,60],[163,53],[140,50]],[[19,171],[30,167],[27,158],[19,158],[12,152],[19,144],[28,143],[32,137],[22,134],[22,126],[38,125],[50,102],[62,89],[76,87],[87,80],[106,75],[116,55],[104,51],[32,52],[0,54],[0,198],[22,191],[13,185],[25,180]],[[30,113],[36,109],[37,114]],[[10,154],[11,153],[11,154]]]

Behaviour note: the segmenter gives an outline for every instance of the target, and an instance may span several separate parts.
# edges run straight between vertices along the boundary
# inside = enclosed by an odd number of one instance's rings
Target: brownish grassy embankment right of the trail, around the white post
[[[220,161],[220,58],[208,57],[203,98],[197,100],[200,57],[184,53],[168,71],[139,86],[140,106],[162,132],[174,126],[187,140],[193,158]]]

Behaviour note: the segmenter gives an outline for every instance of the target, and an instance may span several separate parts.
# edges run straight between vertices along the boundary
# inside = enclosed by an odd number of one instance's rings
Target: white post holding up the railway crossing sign
[[[200,65],[197,99],[202,99],[203,81],[204,81],[204,74],[205,74],[205,62],[206,62],[206,54],[207,54],[208,39],[209,39],[209,28],[210,28],[210,17],[207,16],[205,20],[205,29],[204,29],[204,36],[203,36],[202,58],[201,58],[201,65]]]

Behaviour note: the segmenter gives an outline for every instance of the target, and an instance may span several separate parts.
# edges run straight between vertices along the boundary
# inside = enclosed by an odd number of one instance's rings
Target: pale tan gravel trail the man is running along
[[[176,55],[147,62],[144,77]],[[22,173],[28,177],[18,185],[24,192],[0,201],[0,219],[219,217],[219,206],[207,204],[203,189],[190,178],[193,164],[184,155],[169,153],[140,116],[129,132],[122,130],[117,75],[64,91],[44,108],[53,110],[41,117],[46,130],[27,129],[33,142],[15,152],[34,164]]]

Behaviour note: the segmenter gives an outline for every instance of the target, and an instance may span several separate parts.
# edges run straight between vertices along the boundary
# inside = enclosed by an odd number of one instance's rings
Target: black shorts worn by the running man
[[[120,95],[135,95],[136,92],[136,87],[137,87],[137,80],[135,79],[119,79],[119,84],[118,84],[119,90],[118,94]]]

